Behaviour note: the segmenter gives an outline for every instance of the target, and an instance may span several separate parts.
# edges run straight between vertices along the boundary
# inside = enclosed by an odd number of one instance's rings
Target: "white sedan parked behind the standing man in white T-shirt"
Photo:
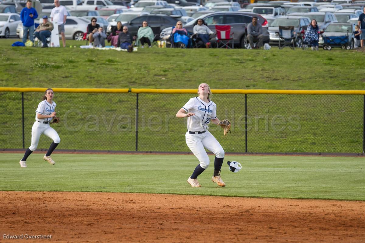
[[[82,17],[75,17],[75,16],[67,16],[66,23],[65,23],[65,37],[66,39],[74,39],[78,40],[82,38],[84,33],[86,32],[87,26],[90,22],[87,19]],[[22,23],[20,23],[21,25]],[[22,26],[18,25],[16,28],[16,34],[19,36],[20,39],[23,38],[23,28]]]

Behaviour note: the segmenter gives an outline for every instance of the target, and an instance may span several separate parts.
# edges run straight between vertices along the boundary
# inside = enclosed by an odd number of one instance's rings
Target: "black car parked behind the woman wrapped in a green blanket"
[[[148,26],[150,26],[152,30],[154,30],[154,33],[159,34],[160,31],[164,28],[176,26],[176,22],[179,20],[180,19],[178,18],[173,18],[164,14],[150,14],[134,18],[127,24],[124,24],[124,26],[128,27],[128,31],[132,35],[137,35],[139,27],[142,27],[142,22],[147,21]],[[158,30],[158,28],[160,31]]]

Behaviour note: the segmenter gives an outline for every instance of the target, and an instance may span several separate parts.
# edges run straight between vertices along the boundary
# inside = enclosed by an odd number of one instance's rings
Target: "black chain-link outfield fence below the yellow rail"
[[[0,92],[0,148],[23,148],[22,112],[24,147],[30,146],[41,96]],[[189,151],[187,119],[175,114],[194,96],[55,92],[61,122],[51,126],[61,138],[57,148]],[[218,118],[232,122],[226,137],[220,127],[210,124],[210,132],[226,152],[364,153],[364,95],[213,94],[211,99]],[[50,143],[42,135],[38,148]]]

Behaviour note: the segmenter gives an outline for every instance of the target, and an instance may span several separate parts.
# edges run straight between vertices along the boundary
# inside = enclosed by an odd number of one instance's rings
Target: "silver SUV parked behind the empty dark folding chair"
[[[307,17],[301,16],[280,16],[275,19],[269,25],[270,44],[278,45],[279,43],[279,26],[294,26],[294,31],[300,33],[303,28],[306,28],[310,24],[311,20]],[[295,45],[300,47],[303,43],[303,38],[300,35],[296,35],[294,39]]]

